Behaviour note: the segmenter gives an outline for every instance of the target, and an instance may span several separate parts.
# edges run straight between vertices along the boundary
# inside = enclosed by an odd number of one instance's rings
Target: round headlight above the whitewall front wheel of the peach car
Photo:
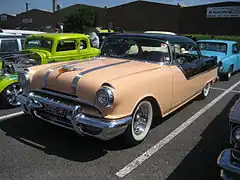
[[[96,94],[96,100],[99,105],[111,107],[114,101],[114,95],[111,88],[103,86]]]

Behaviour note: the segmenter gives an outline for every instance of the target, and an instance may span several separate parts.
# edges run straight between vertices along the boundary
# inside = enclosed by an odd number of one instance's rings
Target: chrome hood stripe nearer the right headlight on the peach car
[[[116,65],[120,65],[120,64],[124,64],[124,63],[128,63],[130,61],[122,61],[122,62],[117,62],[117,63],[113,63],[113,64],[107,64],[104,66],[99,66],[99,67],[95,67],[92,69],[88,69],[86,71],[80,72],[77,76],[74,77],[73,81],[72,81],[72,88],[74,90],[74,92],[76,93],[76,89],[77,89],[77,84],[78,81],[86,74],[93,72],[93,71],[97,71],[99,69],[103,69],[103,68],[107,68],[107,67],[112,67],[112,66],[116,66]]]

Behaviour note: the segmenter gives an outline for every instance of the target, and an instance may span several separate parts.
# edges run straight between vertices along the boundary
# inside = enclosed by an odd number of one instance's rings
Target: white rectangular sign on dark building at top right
[[[208,7],[207,18],[239,18],[240,6]]]

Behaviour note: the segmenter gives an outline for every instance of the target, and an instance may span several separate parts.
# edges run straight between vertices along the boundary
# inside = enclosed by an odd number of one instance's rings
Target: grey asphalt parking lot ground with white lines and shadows
[[[207,99],[164,118],[135,147],[14,114],[19,108],[2,109],[0,179],[219,179],[216,160],[229,146],[228,112],[240,97],[239,80],[236,74],[215,83]]]

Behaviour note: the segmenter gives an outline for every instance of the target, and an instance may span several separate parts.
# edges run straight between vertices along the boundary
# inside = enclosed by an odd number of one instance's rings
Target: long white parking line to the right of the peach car
[[[208,109],[213,107],[218,101],[220,101],[225,95],[227,95],[229,92],[231,92],[235,87],[240,85],[240,81],[226,89],[222,94],[217,96],[214,100],[212,100],[209,104],[207,104],[205,107],[200,109],[196,114],[194,114],[192,117],[190,117],[188,120],[186,120],[184,123],[182,123],[179,127],[177,127],[175,130],[173,130],[170,134],[168,134],[165,138],[160,140],[157,144],[155,144],[153,147],[148,149],[146,152],[144,152],[142,155],[138,156],[136,159],[134,159],[131,163],[126,165],[124,168],[119,170],[117,173],[115,173],[116,176],[119,178],[123,178],[127,174],[129,174],[131,171],[133,171],[135,168],[137,168],[139,165],[141,165],[144,161],[146,161],[148,158],[150,158],[153,154],[155,154],[157,151],[159,151],[162,147],[164,147],[166,144],[168,144],[171,140],[173,140],[177,135],[179,135],[184,129],[186,129],[189,125],[191,125],[196,119],[198,119],[203,113],[205,113]]]

